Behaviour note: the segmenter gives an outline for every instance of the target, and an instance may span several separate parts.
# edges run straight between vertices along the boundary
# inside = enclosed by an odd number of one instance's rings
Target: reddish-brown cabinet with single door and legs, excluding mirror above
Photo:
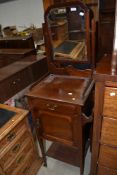
[[[44,164],[44,139],[55,142],[47,155],[80,167],[88,148],[92,122],[90,78],[49,75],[27,94]]]

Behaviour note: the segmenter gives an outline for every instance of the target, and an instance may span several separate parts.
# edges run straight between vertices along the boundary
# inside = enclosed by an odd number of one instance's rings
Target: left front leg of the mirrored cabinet
[[[47,167],[44,139],[38,138],[38,140],[39,140],[39,145],[40,145],[40,149],[41,149],[41,153],[42,153],[42,157],[43,157],[43,161],[44,161],[44,166]]]

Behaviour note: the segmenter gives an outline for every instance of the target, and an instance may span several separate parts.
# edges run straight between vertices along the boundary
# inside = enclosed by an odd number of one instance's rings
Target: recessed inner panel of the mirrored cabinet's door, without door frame
[[[45,137],[72,141],[72,118],[65,115],[39,111],[39,120]]]

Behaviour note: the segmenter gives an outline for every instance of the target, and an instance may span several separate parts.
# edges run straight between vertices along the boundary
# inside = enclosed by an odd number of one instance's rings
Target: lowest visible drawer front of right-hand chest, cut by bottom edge
[[[117,175],[117,170],[99,166],[97,175]]]

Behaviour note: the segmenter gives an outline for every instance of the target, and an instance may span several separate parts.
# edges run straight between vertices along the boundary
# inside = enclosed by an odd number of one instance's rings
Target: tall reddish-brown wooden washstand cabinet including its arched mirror
[[[27,97],[44,165],[48,155],[79,166],[83,175],[92,125],[95,22],[90,9],[75,1],[50,6],[43,28],[49,75]],[[44,140],[53,142],[47,152]]]

